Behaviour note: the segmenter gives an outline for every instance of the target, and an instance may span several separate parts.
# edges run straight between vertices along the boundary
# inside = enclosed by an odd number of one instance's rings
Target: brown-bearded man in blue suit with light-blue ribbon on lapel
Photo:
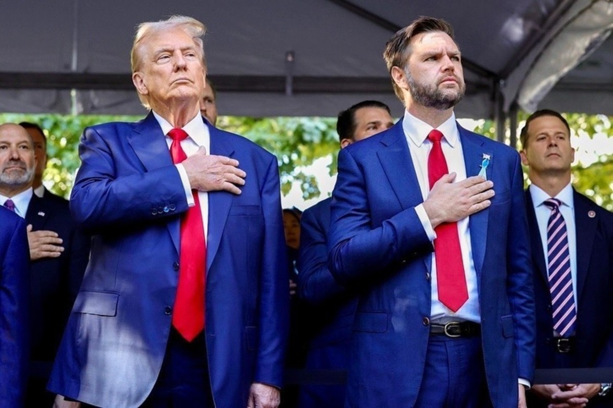
[[[525,407],[534,300],[517,151],[457,124],[451,26],[422,17],[384,58],[402,120],[342,149],[330,271],[359,293],[346,407]]]

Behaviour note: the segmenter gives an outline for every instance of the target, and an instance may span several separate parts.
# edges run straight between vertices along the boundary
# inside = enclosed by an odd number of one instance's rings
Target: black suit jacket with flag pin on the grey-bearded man
[[[64,252],[57,258],[30,263],[30,375],[47,378],[66,321],[85,273],[89,237],[77,228],[67,200],[32,195],[26,213],[32,230],[51,230],[62,238]]]

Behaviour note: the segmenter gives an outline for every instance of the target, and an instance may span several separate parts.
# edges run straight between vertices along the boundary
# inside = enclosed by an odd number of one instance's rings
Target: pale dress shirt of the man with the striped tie
[[[541,234],[541,243],[543,244],[543,255],[545,257],[545,267],[547,267],[547,223],[551,215],[551,209],[544,204],[549,198],[557,198],[562,202],[560,205],[560,213],[566,222],[566,232],[568,233],[568,253],[571,263],[571,278],[573,279],[573,293],[575,308],[577,308],[577,234],[574,222],[574,199],[573,187],[570,183],[562,189],[555,197],[549,197],[549,194],[544,192],[540,187],[531,184],[528,187],[532,204],[535,208],[536,223]],[[547,271],[549,274],[549,271]],[[577,309],[575,309],[577,310]]]

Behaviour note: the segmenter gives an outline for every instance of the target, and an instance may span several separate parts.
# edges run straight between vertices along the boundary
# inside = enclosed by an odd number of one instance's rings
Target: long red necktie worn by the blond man
[[[188,137],[183,129],[168,132],[172,138],[170,156],[177,164],[187,155],[181,148],[181,140]],[[172,315],[172,325],[187,341],[192,341],[204,329],[205,314],[205,265],[207,246],[204,240],[202,213],[198,192],[192,190],[196,205],[190,207],[181,219],[181,249],[179,254],[179,284]]]

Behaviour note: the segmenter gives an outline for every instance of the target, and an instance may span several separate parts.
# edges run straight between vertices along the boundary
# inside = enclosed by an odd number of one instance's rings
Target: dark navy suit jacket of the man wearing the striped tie
[[[577,243],[576,353],[569,368],[613,367],[613,214],[573,192]],[[536,299],[536,368],[562,368],[552,345],[551,296],[543,244],[526,191]]]

